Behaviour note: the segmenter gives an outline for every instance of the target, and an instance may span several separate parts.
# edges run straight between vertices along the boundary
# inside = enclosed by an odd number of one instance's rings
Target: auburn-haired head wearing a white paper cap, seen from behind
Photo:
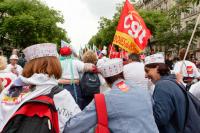
[[[55,44],[36,44],[27,47],[23,52],[27,63],[24,66],[22,76],[29,78],[35,73],[42,73],[49,77],[54,76],[56,79],[61,77],[62,69],[57,58]]]

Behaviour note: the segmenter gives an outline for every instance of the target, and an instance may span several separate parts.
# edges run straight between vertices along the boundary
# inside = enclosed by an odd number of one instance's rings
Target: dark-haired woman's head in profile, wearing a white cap
[[[161,76],[170,74],[169,67],[165,64],[162,54],[154,54],[145,58],[145,77],[150,79],[152,83],[160,80]]]

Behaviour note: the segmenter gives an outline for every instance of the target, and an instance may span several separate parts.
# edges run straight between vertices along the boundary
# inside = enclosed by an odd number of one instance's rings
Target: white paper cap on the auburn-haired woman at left
[[[35,44],[24,49],[23,53],[27,61],[45,56],[57,57],[58,55],[56,44],[53,43]]]

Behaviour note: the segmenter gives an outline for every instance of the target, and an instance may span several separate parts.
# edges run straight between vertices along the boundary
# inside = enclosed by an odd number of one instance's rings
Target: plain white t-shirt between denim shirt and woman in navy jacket
[[[145,78],[144,64],[142,62],[132,62],[124,66],[124,78],[132,81],[138,86],[148,89],[148,79]]]

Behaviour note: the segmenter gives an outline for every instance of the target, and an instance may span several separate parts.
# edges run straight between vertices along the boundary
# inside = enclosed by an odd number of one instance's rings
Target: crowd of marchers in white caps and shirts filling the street
[[[88,50],[80,60],[70,46],[57,52],[55,44],[35,44],[18,57],[0,56],[0,132],[26,103],[47,95],[59,86],[53,101],[58,111],[59,132],[94,132],[98,124],[94,96],[83,95],[81,78],[86,72],[98,75],[104,94],[108,128],[113,133],[182,133],[187,117],[187,99],[180,85],[200,99],[199,64],[178,61],[170,54],[156,53],[143,60],[130,53],[128,60],[109,59]],[[21,87],[20,89],[17,89]],[[15,88],[15,89],[13,89]],[[12,128],[12,127],[10,127]]]

